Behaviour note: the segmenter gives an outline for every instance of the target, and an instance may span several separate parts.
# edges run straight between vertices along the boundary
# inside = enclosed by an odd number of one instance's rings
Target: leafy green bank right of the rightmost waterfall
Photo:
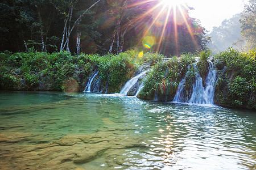
[[[235,49],[216,54],[218,69],[216,103],[256,109],[256,50],[240,53]]]

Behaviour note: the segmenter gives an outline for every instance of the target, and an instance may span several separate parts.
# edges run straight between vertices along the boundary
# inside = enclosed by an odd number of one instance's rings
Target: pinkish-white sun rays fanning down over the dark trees
[[[189,33],[193,44],[197,46],[196,39],[194,37],[191,24],[189,24],[187,12],[189,8],[183,1],[177,0],[146,0],[146,1],[138,1],[136,3],[132,3],[129,7],[135,6],[143,6],[150,3],[152,6],[148,8],[143,14],[139,15],[137,18],[133,19],[131,22],[141,22],[140,25],[142,27],[146,25],[143,29],[143,33],[141,35],[141,40],[138,42],[138,46],[141,43],[147,49],[151,49],[154,46],[156,52],[160,52],[161,49],[164,48],[165,45],[168,45],[166,42],[166,37],[170,36],[170,32],[174,34],[172,37],[172,44],[175,44],[175,53],[179,54],[179,32],[178,28],[180,25],[185,25],[187,32]],[[147,22],[148,15],[151,17],[150,23]],[[159,24],[159,27],[156,26]],[[161,24],[162,23],[162,24]],[[170,24],[171,23],[171,24]],[[154,31],[152,31],[152,27],[158,27],[161,30],[158,31],[158,35],[154,35]],[[148,48],[148,43],[144,42],[144,37],[146,36],[157,36],[155,44],[151,44]],[[145,45],[146,44],[146,45]]]

